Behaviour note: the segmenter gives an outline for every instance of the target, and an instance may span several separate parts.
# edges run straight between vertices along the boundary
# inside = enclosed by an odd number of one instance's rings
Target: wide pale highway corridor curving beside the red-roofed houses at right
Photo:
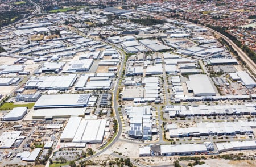
[[[207,28],[207,30],[209,30],[210,32],[212,32],[213,34],[217,34],[218,36],[221,36],[223,39],[225,39],[233,48],[235,51],[237,51],[238,55],[241,57],[241,59],[243,61],[246,62],[246,64],[249,66],[249,68],[253,71],[253,73],[256,73],[256,65],[253,62],[253,60],[250,59],[249,56],[246,55],[245,52],[242,51],[242,49],[240,47],[238,47],[236,44],[233,43],[232,40],[230,40],[228,37],[226,37],[225,35],[221,34],[220,32],[217,32],[215,30],[212,30],[209,27],[205,27],[200,25],[201,27]]]

